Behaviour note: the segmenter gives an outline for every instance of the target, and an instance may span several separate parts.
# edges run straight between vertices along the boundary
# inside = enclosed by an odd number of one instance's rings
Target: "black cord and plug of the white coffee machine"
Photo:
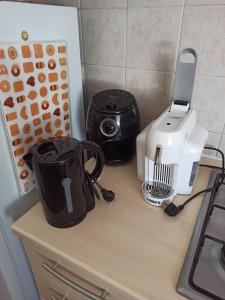
[[[169,203],[167,205],[167,207],[164,209],[164,212],[170,216],[170,217],[175,217],[181,210],[184,209],[184,207],[189,203],[191,202],[194,198],[196,198],[197,196],[199,196],[200,194],[202,193],[208,193],[208,192],[211,192],[211,191],[214,191],[216,189],[218,189],[222,184],[223,184],[223,180],[225,178],[225,169],[224,169],[224,154],[223,152],[220,150],[220,149],[217,149],[217,148],[214,148],[214,147],[210,147],[210,146],[205,146],[204,147],[205,149],[209,149],[209,150],[214,150],[214,151],[217,151],[218,153],[220,153],[221,157],[222,157],[222,166],[221,168],[220,167],[217,167],[217,166],[211,166],[211,165],[202,165],[200,164],[199,166],[201,167],[207,167],[207,168],[211,168],[211,169],[218,169],[218,170],[221,170],[221,180],[215,184],[214,186],[212,187],[209,187],[207,189],[204,189],[204,190],[201,190],[199,191],[198,193],[192,195],[190,198],[188,198],[186,201],[184,201],[184,203],[182,203],[181,205],[179,206],[176,206],[175,204],[173,204],[172,202]]]

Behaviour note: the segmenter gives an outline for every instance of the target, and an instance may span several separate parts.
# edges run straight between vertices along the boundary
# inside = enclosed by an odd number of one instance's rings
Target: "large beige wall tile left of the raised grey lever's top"
[[[128,9],[127,66],[174,71],[182,9]]]

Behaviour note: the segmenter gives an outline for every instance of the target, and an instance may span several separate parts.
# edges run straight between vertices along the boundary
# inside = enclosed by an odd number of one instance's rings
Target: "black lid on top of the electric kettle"
[[[33,159],[41,163],[62,163],[82,151],[81,143],[72,137],[51,137],[31,148]]]

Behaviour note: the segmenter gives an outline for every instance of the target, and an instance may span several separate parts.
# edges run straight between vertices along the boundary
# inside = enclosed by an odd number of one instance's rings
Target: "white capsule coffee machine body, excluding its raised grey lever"
[[[197,124],[195,110],[174,103],[139,134],[138,178],[144,181],[144,190],[150,184],[155,191],[165,192],[144,192],[146,201],[161,206],[177,194],[192,192],[207,136],[207,130]]]

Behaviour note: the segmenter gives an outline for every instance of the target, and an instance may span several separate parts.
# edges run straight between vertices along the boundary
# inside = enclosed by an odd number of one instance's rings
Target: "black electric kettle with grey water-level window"
[[[85,150],[96,158],[91,174],[84,169]],[[104,165],[104,154],[97,144],[53,137],[33,145],[23,159],[34,172],[49,224],[73,226],[94,208],[93,184]]]

